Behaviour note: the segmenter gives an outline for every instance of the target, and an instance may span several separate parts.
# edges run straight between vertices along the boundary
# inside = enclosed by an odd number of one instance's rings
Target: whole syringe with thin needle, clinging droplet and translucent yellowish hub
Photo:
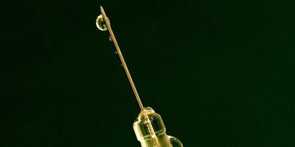
[[[120,57],[122,66],[127,74],[128,80],[135,94],[136,100],[140,107],[140,113],[137,119],[133,123],[133,129],[137,140],[140,141],[142,147],[183,147],[182,143],[173,136],[166,134],[166,128],[164,126],[161,116],[150,107],[143,107],[140,97],[137,93],[132,77],[129,73],[127,65],[124,61],[123,55],[120,51],[117,40],[112,31],[110,21],[104,12],[102,6],[100,6],[101,14],[96,19],[96,26],[101,31],[109,30],[111,39],[117,50],[117,54]]]

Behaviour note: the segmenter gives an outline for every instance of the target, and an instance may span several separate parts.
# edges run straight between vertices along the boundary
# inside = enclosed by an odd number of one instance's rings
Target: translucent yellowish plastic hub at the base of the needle
[[[133,129],[142,147],[182,147],[178,139],[167,136],[161,116],[150,107],[140,111]]]

